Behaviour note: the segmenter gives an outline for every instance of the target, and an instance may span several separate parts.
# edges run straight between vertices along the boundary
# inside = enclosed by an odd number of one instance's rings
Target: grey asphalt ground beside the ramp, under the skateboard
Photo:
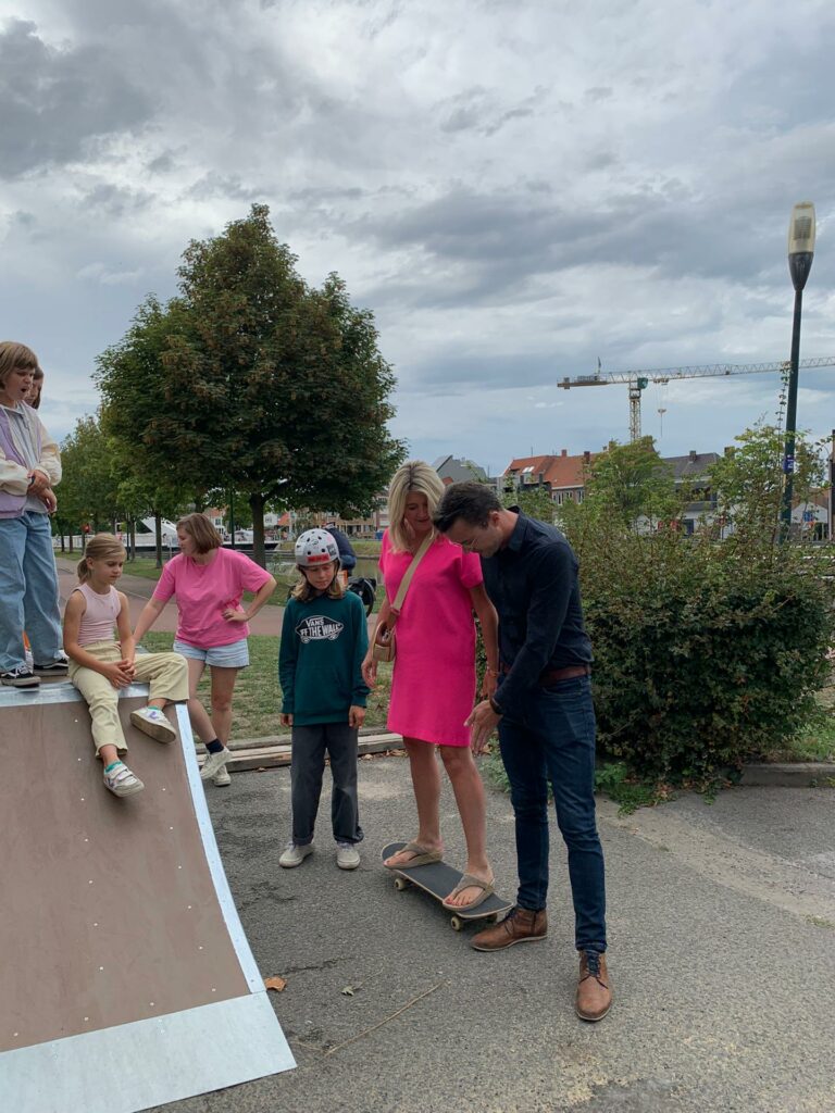
[[[326,778],[327,780],[327,778]],[[552,825],[549,937],[472,951],[425,895],[397,893],[381,847],[413,834],[407,764],[361,761],[366,833],[336,868],[323,801],[316,851],[283,870],[289,771],[207,787],[223,859],[295,1071],[165,1106],[176,1113],[833,1113],[832,789],[736,788],[618,817],[599,801],[615,1005],[573,1012],[577,958]],[[444,791],[448,860],[463,840]],[[513,819],[489,792],[499,893]],[[223,1054],[223,1032],[206,1033]],[[184,1051],[187,1054],[187,1051]]]

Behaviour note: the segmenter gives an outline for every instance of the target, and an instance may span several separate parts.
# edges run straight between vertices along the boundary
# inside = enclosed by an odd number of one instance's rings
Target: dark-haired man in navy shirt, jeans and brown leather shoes
[[[500,676],[469,723],[481,754],[494,728],[515,815],[519,893],[500,924],[472,940],[500,951],[548,930],[548,782],[568,848],[580,952],[577,1012],[600,1021],[611,1005],[606,967],[603,853],[595,819],[595,710],[591,642],[583,626],[577,558],[552,525],[502,506],[481,483],[451,484],[438,529],[479,553],[484,587],[499,612]]]

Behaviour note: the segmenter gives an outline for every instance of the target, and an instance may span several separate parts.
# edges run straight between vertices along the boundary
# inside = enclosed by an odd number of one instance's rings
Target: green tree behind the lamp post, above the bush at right
[[[738,535],[774,543],[779,536],[784,475],[783,433],[758,422],[735,437],[736,445],[710,467],[710,482],[721,520]],[[794,495],[807,502],[825,484],[822,445],[798,432],[795,440]]]

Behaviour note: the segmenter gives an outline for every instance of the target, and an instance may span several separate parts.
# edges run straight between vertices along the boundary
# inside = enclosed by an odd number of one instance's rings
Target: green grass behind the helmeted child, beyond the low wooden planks
[[[143,644],[151,652],[171,649],[173,633],[151,630]],[[232,738],[263,738],[266,735],[286,735],[288,728],[281,723],[282,689],[278,683],[278,646],[281,638],[267,634],[249,636],[249,668],[242,669],[235,684]],[[389,698],[392,688],[392,666],[381,664],[377,686],[369,696],[366,727],[385,728]],[[212,686],[206,669],[197,695],[208,708]]]

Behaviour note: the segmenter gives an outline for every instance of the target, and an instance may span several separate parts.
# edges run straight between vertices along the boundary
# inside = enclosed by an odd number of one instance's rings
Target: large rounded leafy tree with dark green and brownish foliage
[[[180,296],[148,299],[99,362],[109,427],[176,483],[243,492],[262,562],[267,502],[362,513],[403,456],[372,314],[295,265],[253,206],[189,244]]]

